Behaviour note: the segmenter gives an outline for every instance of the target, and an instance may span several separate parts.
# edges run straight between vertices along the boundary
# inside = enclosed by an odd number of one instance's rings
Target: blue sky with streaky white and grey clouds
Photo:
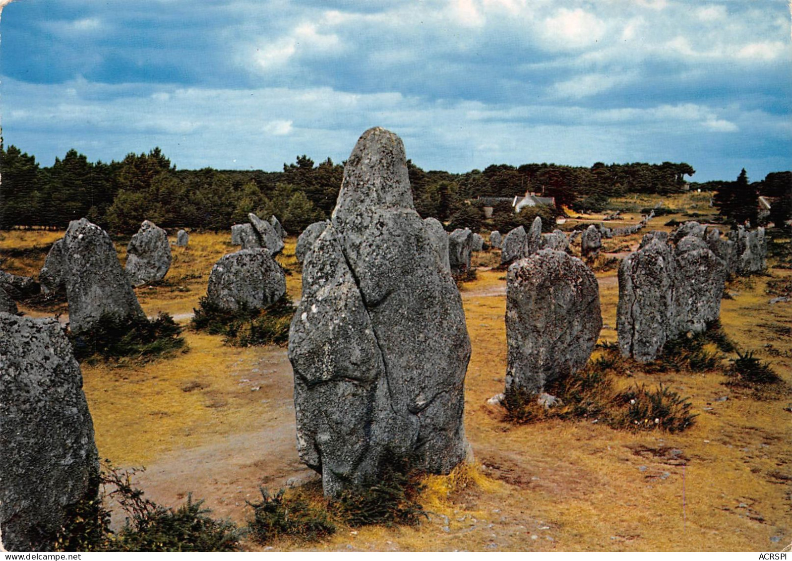
[[[792,169],[786,0],[19,0],[0,80],[5,143],[42,165],[280,170],[379,125],[427,170]]]

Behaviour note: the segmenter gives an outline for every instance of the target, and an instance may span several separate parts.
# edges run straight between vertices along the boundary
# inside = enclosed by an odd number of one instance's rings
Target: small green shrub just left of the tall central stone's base
[[[284,490],[269,494],[261,488],[261,502],[249,502],[253,518],[248,520],[247,529],[258,544],[268,544],[280,537],[316,541],[336,532],[336,526],[328,514],[311,507],[302,498],[286,498]]]

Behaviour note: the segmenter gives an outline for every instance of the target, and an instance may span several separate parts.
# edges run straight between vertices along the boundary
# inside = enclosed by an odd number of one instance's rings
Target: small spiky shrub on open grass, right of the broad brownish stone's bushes
[[[621,414],[611,418],[610,425],[618,429],[654,430],[663,429],[679,433],[695,422],[688,398],[682,398],[663,384],[649,391],[645,386],[620,392],[615,403],[622,405]]]

